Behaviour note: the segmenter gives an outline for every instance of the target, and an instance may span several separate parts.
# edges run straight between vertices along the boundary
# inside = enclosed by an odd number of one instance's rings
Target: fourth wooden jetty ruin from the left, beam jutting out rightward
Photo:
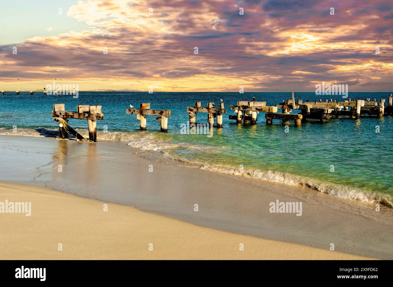
[[[237,105],[232,105],[231,110],[234,110],[234,114],[230,115],[229,119],[236,120],[237,124],[241,122],[255,124],[259,112],[277,113],[277,107],[266,106],[266,102],[257,102],[255,99],[253,101],[237,101]]]

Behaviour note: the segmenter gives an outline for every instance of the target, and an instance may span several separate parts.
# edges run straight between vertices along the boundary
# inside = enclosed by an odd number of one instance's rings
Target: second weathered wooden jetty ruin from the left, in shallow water
[[[161,122],[161,132],[168,131],[168,117],[171,115],[170,110],[151,110],[149,102],[141,103],[140,109],[130,108],[126,113],[136,114],[136,119],[140,120],[140,129],[146,130],[146,116],[158,115],[156,122]]]

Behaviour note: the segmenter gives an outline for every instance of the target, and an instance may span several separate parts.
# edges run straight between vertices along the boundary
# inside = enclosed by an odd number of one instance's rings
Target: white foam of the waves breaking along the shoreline
[[[77,130],[84,137],[88,137],[87,130]],[[13,130],[6,130],[0,128],[0,134],[2,135],[21,135],[29,137],[57,137],[59,132],[57,130],[48,130],[45,128],[37,129],[24,129],[18,128],[17,132]],[[343,186],[334,183],[321,182],[317,179],[309,177],[303,177],[300,175],[294,175],[284,172],[278,172],[274,170],[258,170],[258,169],[245,169],[240,172],[239,168],[232,168],[223,165],[209,165],[201,163],[185,157],[175,156],[170,151],[173,149],[189,149],[189,150],[217,150],[215,147],[191,145],[186,143],[172,143],[166,139],[160,139],[152,133],[145,132],[97,132],[97,139],[110,140],[110,141],[124,141],[132,148],[160,152],[160,154],[172,161],[178,161],[179,163],[187,163],[192,166],[198,166],[204,170],[211,170],[215,172],[232,174],[237,176],[244,176],[253,179],[260,179],[271,181],[275,183],[283,183],[286,185],[293,186],[305,186],[312,188],[319,192],[331,194],[333,196],[354,199],[365,203],[374,203],[375,201],[380,202],[386,206],[393,207],[393,198],[387,194],[377,192],[367,192],[359,188],[350,186]]]

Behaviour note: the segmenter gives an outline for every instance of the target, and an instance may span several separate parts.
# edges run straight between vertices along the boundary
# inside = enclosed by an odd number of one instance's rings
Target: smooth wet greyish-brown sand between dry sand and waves
[[[0,181],[131,205],[199,225],[198,228],[231,232],[231,236],[244,234],[255,240],[268,239],[328,252],[332,252],[329,249],[334,243],[334,253],[392,258],[391,208],[381,206],[377,212],[374,205],[308,188],[151,161],[135,152],[140,153],[121,142],[1,136]],[[59,165],[62,172],[58,171]],[[153,171],[149,172],[151,167]],[[277,199],[302,202],[302,215],[270,213],[269,203]],[[270,255],[274,258],[273,253]],[[281,255],[277,253],[274,259],[285,259]],[[291,258],[299,254],[294,256]]]

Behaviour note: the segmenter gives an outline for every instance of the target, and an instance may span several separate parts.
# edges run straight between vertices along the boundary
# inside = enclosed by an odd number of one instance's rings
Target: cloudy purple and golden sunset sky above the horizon
[[[393,90],[391,0],[0,0],[0,90]],[[17,80],[19,79],[19,80]]]

